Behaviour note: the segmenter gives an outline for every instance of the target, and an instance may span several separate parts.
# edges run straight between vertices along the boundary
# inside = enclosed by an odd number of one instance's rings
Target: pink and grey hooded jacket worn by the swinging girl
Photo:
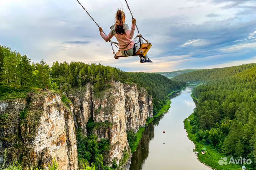
[[[135,25],[132,24],[131,30],[129,30],[129,27],[128,27],[127,24],[124,24],[123,27],[124,27],[124,32],[126,32],[126,34],[122,34],[122,35],[121,34],[116,34],[116,32],[115,32],[116,25],[113,25],[113,26],[110,27],[111,31],[107,36],[104,35],[103,33],[100,33],[100,35],[102,36],[102,38],[106,42],[111,40],[111,38],[113,38],[113,36],[115,36],[118,43],[119,43],[119,50],[120,51],[125,51],[125,50],[128,50],[128,49],[131,49],[131,48],[133,48],[133,45],[134,45],[134,41],[133,42],[131,42],[131,41],[132,41],[132,38],[133,38],[133,35],[134,35]],[[127,46],[127,44],[129,44],[129,45]],[[127,47],[125,47],[125,46],[127,46]],[[122,49],[122,48],[124,48],[124,49]]]

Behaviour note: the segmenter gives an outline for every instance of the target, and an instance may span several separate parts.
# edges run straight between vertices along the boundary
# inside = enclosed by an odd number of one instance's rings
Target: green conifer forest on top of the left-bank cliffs
[[[26,55],[0,46],[0,100],[24,97],[32,87],[50,90],[62,90],[69,94],[72,87],[81,87],[86,83],[94,85],[94,91],[100,92],[110,86],[111,82],[137,83],[145,87],[153,97],[154,114],[165,104],[167,94],[181,89],[185,83],[172,81],[156,73],[132,73],[102,64],[82,62],[46,61],[31,63]]]

